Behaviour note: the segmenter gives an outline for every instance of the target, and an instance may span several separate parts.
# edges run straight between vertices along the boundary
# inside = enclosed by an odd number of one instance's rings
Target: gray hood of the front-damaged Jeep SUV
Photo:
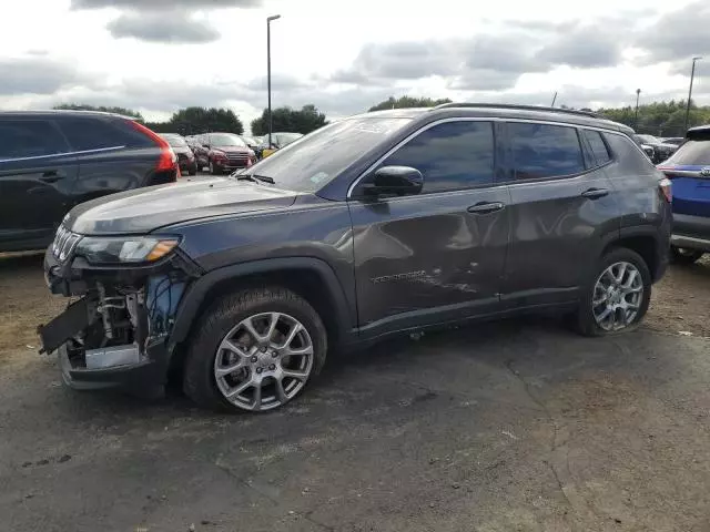
[[[211,216],[286,208],[293,191],[233,177],[181,181],[121,192],[74,207],[64,225],[82,235],[142,234]]]

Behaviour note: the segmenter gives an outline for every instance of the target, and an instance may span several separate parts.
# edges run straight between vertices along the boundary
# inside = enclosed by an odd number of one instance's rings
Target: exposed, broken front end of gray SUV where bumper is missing
[[[142,392],[163,386],[170,366],[168,338],[190,277],[181,265],[181,259],[175,258],[145,270],[143,275],[136,269],[94,272],[72,268],[70,263],[58,264],[48,250],[44,275],[50,290],[67,297],[79,296],[80,299],[49,324],[39,327],[40,352],[57,352],[62,379],[71,388],[121,387]],[[113,289],[112,297],[108,298],[112,301],[102,304],[95,288],[97,279],[102,286]],[[116,297],[116,289],[124,294],[123,301]],[[104,306],[113,307],[116,303],[118,310],[112,310],[111,320],[106,324]],[[136,310],[136,305],[140,310]],[[115,311],[122,316],[113,314]],[[130,332],[116,334],[119,329],[112,329],[114,327]],[[104,336],[106,328],[112,329],[111,336]]]

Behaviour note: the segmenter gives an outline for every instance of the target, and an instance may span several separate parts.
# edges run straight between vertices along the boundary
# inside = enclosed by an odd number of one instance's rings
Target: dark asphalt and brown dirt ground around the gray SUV
[[[0,260],[0,531],[710,531],[708,262],[632,334],[390,341],[227,417],[60,386],[40,262]]]

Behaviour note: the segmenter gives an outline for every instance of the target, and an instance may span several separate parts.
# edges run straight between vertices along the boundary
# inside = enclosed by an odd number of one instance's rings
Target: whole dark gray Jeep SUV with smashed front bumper
[[[633,328],[668,263],[670,184],[591,113],[445,104],[322,127],[231,176],[73,208],[45,254],[79,297],[40,328],[77,388],[261,411],[326,354],[554,310]]]

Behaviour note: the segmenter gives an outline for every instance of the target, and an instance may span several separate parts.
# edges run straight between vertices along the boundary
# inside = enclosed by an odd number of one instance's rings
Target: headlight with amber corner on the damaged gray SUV
[[[77,244],[77,255],[91,264],[154,263],[171,253],[180,241],[174,237],[95,237]]]

